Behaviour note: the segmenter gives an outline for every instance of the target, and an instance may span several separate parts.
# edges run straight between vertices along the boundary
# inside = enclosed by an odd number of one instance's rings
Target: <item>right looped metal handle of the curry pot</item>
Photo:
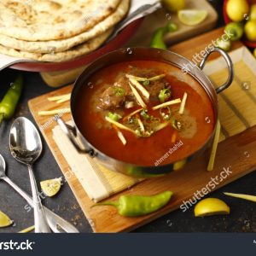
[[[226,54],[223,49],[220,49],[218,47],[214,47],[213,49],[207,51],[207,54],[204,56],[204,58],[202,59],[201,63],[199,64],[198,67],[201,70],[205,67],[207,58],[208,58],[209,55],[212,54],[212,52],[218,52],[220,55],[222,55],[224,57],[224,60],[226,61],[227,66],[228,66],[228,70],[229,70],[229,77],[228,77],[227,81],[223,85],[219,86],[216,89],[216,92],[220,93],[221,91],[229,88],[230,84],[232,84],[233,79],[234,79],[234,66],[233,66],[233,63],[232,63],[232,61],[230,59],[230,55]]]

